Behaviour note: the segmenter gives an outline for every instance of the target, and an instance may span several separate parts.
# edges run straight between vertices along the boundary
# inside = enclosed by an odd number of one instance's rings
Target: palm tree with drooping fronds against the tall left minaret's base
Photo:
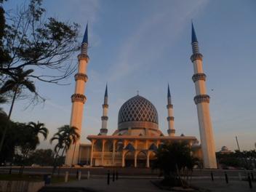
[[[77,130],[78,129],[76,127],[64,125],[63,127],[59,127],[58,132],[55,133],[55,135],[53,135],[51,138],[50,143],[52,143],[53,140],[57,140],[57,144],[55,145],[55,151],[57,151],[57,154],[60,152],[60,149],[63,149],[61,157],[63,157],[64,152],[68,151],[71,144],[76,143],[76,140],[79,139],[80,136]],[[55,156],[55,164],[53,165],[52,175],[55,172],[57,154]]]

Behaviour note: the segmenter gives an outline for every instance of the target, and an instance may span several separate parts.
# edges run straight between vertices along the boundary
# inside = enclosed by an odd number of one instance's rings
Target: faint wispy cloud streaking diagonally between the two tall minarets
[[[161,12],[152,13],[145,17],[135,32],[131,31],[129,38],[124,41],[118,57],[109,71],[110,81],[124,78],[140,68],[151,68],[161,52],[172,45],[177,39],[185,23],[204,9],[208,1],[193,1],[180,3],[177,9],[163,7]],[[161,31],[160,31],[161,28]]]

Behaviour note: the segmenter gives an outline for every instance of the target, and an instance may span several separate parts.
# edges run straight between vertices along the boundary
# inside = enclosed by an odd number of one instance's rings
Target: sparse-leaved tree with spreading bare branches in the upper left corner
[[[79,25],[47,18],[41,2],[31,0],[16,12],[8,12],[7,23],[4,16],[1,17],[0,46],[7,58],[0,64],[3,83],[18,69],[33,68],[35,72],[29,75],[31,78],[57,84],[76,69],[65,61],[78,50]]]

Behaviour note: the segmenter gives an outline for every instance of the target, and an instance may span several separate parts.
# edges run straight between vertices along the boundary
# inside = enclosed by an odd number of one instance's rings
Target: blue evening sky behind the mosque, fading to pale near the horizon
[[[7,1],[15,9],[24,1]],[[174,105],[176,134],[199,137],[195,87],[191,77],[191,20],[200,52],[204,55],[210,113],[216,151],[225,145],[241,150],[256,143],[256,1],[247,0],[44,0],[47,17],[81,25],[82,40],[89,23],[89,65],[81,132],[97,135],[101,128],[105,84],[108,82],[108,134],[117,129],[119,108],[140,95],[156,106],[159,129],[167,135],[167,84]],[[73,62],[76,61],[76,53]],[[71,62],[70,60],[67,62]],[[25,100],[15,103],[12,120],[41,121],[49,138],[57,127],[69,124],[73,76],[58,86],[36,81],[47,98],[44,104],[25,109]],[[4,105],[6,111],[9,105]],[[52,148],[49,140],[39,148]]]

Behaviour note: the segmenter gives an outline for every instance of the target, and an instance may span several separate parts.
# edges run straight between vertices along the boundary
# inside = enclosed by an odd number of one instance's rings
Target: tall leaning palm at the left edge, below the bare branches
[[[33,81],[30,81],[28,79],[28,76],[33,73],[33,69],[29,69],[27,71],[23,71],[23,69],[17,69],[17,72],[15,73],[15,76],[12,76],[12,79],[7,80],[4,85],[0,89],[0,94],[3,94],[5,92],[13,91],[14,95],[12,97],[12,103],[11,107],[9,109],[8,119],[10,119],[12,114],[12,108],[15,103],[15,99],[17,96],[17,93],[20,89],[25,88],[28,89],[30,92],[36,93],[36,87],[33,84]],[[0,142],[0,152],[1,148],[4,144],[4,137],[7,132],[7,126],[4,128],[3,134],[1,136],[1,142]]]

